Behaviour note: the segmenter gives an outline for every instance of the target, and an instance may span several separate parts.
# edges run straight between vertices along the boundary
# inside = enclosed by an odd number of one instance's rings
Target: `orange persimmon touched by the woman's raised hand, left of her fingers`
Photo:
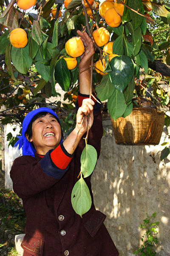
[[[71,57],[79,57],[84,53],[85,47],[81,38],[75,37],[66,42],[65,50]]]

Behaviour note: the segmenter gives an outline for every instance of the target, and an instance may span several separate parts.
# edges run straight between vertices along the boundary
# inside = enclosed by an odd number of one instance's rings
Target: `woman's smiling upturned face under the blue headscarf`
[[[61,141],[61,127],[50,113],[40,116],[32,123],[32,137],[38,154],[46,154],[48,150],[56,148]]]

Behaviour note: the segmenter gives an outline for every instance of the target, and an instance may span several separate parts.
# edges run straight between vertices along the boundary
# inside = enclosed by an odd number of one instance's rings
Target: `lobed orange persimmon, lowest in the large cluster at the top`
[[[122,18],[114,8],[111,8],[105,13],[105,21],[112,28],[116,28],[122,23]]]

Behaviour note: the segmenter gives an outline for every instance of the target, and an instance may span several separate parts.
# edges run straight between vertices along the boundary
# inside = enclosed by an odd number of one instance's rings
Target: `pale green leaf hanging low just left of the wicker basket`
[[[111,117],[116,121],[120,116],[125,113],[126,103],[123,93],[119,90],[114,90],[112,96],[108,99],[108,112]]]

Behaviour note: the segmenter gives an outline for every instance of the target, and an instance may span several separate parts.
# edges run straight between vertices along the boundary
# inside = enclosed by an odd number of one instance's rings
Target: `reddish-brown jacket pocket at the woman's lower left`
[[[42,256],[44,241],[38,237],[26,234],[21,243],[21,247],[33,256]]]

